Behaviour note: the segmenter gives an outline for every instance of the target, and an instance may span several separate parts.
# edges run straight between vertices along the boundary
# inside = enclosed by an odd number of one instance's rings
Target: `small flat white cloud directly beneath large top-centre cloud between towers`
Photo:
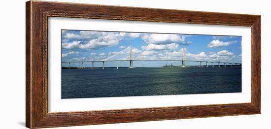
[[[141,48],[144,48],[146,50],[175,50],[178,49],[179,44],[171,43],[171,44],[149,44],[148,46],[141,46]]]

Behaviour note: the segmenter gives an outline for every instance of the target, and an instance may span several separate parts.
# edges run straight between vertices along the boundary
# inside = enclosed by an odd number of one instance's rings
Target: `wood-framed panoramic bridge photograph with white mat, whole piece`
[[[261,16],[26,2],[26,127],[261,113]]]

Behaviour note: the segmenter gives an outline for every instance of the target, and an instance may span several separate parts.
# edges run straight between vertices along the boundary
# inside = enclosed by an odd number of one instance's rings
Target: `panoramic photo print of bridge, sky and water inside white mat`
[[[61,97],[240,93],[241,36],[62,30]]]

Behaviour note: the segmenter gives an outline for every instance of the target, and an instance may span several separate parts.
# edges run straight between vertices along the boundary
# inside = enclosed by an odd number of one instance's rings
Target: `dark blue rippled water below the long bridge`
[[[241,92],[241,67],[62,69],[62,98]]]

